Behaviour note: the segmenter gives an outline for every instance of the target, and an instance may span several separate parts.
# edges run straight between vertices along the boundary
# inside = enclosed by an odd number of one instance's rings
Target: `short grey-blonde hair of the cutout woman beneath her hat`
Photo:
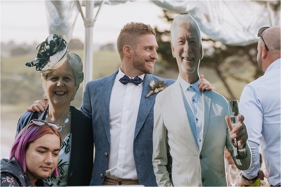
[[[73,72],[73,75],[74,75],[74,80],[75,80],[76,89],[74,90],[73,95],[71,97],[71,101],[72,101],[75,97],[75,94],[76,94],[77,90],[79,89],[80,83],[84,79],[82,60],[75,53],[67,50],[65,55],[62,57],[62,59],[56,65],[54,65],[52,68],[50,68],[47,71],[41,72],[41,83],[42,83],[42,86],[43,86],[42,81],[47,80],[48,74],[51,73],[52,71],[56,70],[57,68],[61,67],[65,63],[70,65],[70,67],[72,69],[72,72]],[[44,86],[43,86],[43,89],[44,89]]]

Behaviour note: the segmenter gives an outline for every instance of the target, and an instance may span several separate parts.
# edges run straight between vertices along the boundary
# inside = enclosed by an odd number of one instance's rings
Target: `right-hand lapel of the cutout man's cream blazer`
[[[210,119],[210,107],[211,107],[211,98],[212,98],[212,91],[205,91],[202,92],[202,103],[203,103],[203,111],[204,111],[204,121],[203,121],[203,140],[201,144],[200,151],[204,146],[205,137],[208,132],[209,127],[209,119]]]

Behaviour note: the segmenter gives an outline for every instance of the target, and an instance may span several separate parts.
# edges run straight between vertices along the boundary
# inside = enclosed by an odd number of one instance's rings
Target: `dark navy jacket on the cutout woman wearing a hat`
[[[48,105],[46,105],[48,108]],[[70,163],[67,174],[67,186],[89,186],[91,171],[93,168],[94,142],[91,119],[83,115],[81,111],[70,106],[71,110],[71,148]],[[17,122],[17,132],[29,124],[32,119],[44,120],[47,110],[39,114],[37,112],[25,112]]]

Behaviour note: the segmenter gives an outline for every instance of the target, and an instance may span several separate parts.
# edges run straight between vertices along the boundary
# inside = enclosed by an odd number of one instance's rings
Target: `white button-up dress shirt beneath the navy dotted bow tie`
[[[122,84],[119,79],[123,76],[124,73],[119,69],[111,91],[110,154],[106,177],[137,180],[133,142],[143,83]],[[144,79],[144,76],[139,77]]]

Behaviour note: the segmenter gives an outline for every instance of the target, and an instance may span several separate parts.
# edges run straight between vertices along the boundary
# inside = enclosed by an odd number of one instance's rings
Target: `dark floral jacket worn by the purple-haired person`
[[[45,180],[37,179],[32,185],[27,173],[24,173],[15,157],[1,159],[1,186],[49,186]]]

